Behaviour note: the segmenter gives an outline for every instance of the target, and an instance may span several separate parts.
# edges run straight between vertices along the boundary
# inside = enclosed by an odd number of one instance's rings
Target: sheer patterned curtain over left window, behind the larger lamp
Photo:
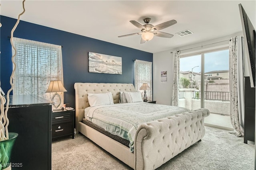
[[[20,38],[14,38],[13,42],[17,49],[13,94],[36,94],[50,100],[54,95],[46,93],[50,80],[60,80],[63,84],[61,46]],[[63,92],[58,94],[63,105]]]

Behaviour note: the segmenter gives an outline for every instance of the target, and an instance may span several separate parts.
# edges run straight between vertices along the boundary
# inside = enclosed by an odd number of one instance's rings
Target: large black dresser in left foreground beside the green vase
[[[12,170],[51,170],[52,102],[36,95],[10,96],[9,132],[18,133]]]

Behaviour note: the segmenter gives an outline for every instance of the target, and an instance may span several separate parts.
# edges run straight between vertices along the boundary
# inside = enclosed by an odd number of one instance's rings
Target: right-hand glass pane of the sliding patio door
[[[204,53],[204,75],[204,107],[211,112],[205,123],[232,129],[228,49]]]

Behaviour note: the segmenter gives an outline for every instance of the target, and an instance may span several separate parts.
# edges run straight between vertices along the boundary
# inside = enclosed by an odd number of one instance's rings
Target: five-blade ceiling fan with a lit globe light
[[[172,38],[173,37],[172,34],[160,32],[159,30],[174,25],[175,23],[177,23],[176,20],[166,21],[166,22],[160,23],[156,26],[149,24],[150,21],[151,21],[151,18],[145,18],[144,19],[144,22],[146,23],[145,25],[141,25],[137,21],[130,21],[130,23],[132,23],[136,27],[140,28],[141,32],[127,34],[127,35],[121,35],[121,36],[118,36],[118,37],[127,37],[127,36],[130,36],[130,35],[138,34],[138,35],[141,35],[141,40],[140,40],[141,44],[145,43],[146,41],[150,41],[154,37],[154,35],[158,36],[158,37],[164,37],[164,38]]]

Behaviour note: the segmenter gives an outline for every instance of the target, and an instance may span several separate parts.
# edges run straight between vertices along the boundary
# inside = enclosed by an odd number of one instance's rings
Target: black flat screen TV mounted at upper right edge
[[[244,35],[244,54],[248,61],[248,70],[250,76],[251,87],[256,84],[256,61],[255,61],[255,28],[253,27],[249,17],[247,16],[241,4],[238,4],[240,17],[242,22],[242,30]],[[254,11],[255,12],[255,11]]]

